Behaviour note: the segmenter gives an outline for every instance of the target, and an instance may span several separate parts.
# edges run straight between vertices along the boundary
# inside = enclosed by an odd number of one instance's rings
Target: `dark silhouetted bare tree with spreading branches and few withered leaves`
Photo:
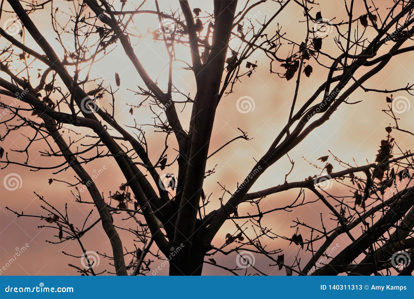
[[[17,217],[46,220],[47,225],[41,227],[53,227],[58,231],[56,241],[51,243],[76,240],[82,249],[81,256],[87,261],[84,268],[70,264],[79,273],[99,274],[94,271],[93,258],[88,256],[82,237],[92,227],[101,225],[112,246],[112,255],[104,257],[111,260],[115,271],[110,272],[117,275],[145,275],[151,271],[154,258],[168,260],[170,275],[201,275],[205,263],[235,275],[247,273],[248,266],[260,275],[267,273],[266,269],[254,265],[251,256],[240,254],[241,251],[264,256],[271,266],[277,266],[279,270],[285,268],[287,275],[411,275],[414,263],[405,263],[407,267],[401,270],[393,259],[400,251],[408,258],[413,254],[414,187],[411,186],[414,160],[409,149],[400,148],[395,142],[392,132],[404,132],[409,138],[414,134],[412,127],[402,128],[398,124],[398,112],[401,112],[398,109],[401,110],[400,105],[404,104],[403,108],[409,109],[408,98],[396,98],[392,93],[410,96],[413,85],[404,83],[398,89],[387,90],[370,88],[366,81],[381,74],[391,59],[398,60],[399,55],[414,50],[414,1],[389,1],[387,13],[380,14],[375,5],[377,1],[364,0],[361,13],[355,8],[356,1],[347,0],[344,9],[348,19],[342,21],[323,18],[320,7],[313,0],[243,3],[215,0],[212,12],[190,7],[185,0],[178,3],[155,0],[154,10],[142,9],[145,1],[132,3],[132,10],[126,10],[130,3],[125,0],[120,3],[70,1],[71,8],[63,14],[65,17],[58,9],[59,3],[52,0],[7,2],[2,1],[1,6],[2,20],[7,19],[7,22],[2,22],[4,26],[0,29],[3,43],[0,105],[4,112],[0,140],[4,141],[16,131],[29,130],[32,134],[27,146],[17,149],[26,155],[22,161],[9,159],[8,152],[16,149],[1,148],[2,169],[13,164],[34,171],[55,169],[54,173],[72,169],[77,182],[58,183],[67,183],[84,209],[94,207],[89,216],[97,212],[99,220],[91,223],[88,216],[85,220],[77,219],[74,225],[66,209],[62,212],[61,207],[53,206],[40,194],[36,195],[47,215],[26,215],[12,207],[8,209]],[[269,2],[278,9],[260,23],[252,12]],[[304,39],[289,37],[284,33],[283,24],[277,23],[286,9],[295,9],[303,16],[307,27],[301,33]],[[39,24],[31,17],[39,14],[51,18],[53,35],[43,36]],[[158,19],[159,28],[142,33],[146,28],[142,30],[140,26],[146,26],[134,22],[135,16],[141,14]],[[329,34],[325,34],[326,31]],[[52,38],[60,43],[59,51],[48,41]],[[135,44],[148,38],[163,45],[163,51],[169,57],[165,66],[168,70],[166,82],[151,78],[140,61]],[[323,50],[327,39],[337,45],[332,53]],[[188,47],[191,63],[184,69],[193,74],[196,91],[185,91],[175,84],[173,65],[179,60],[178,45]],[[94,65],[114,49],[130,60],[137,72],[137,85],[141,84],[137,91],[131,91],[141,99],[139,103],[130,104],[131,115],[147,107],[153,123],[140,124],[139,117],[133,127],[120,123],[116,120],[115,109],[121,76],[114,71],[115,84],[91,77]],[[291,91],[290,113],[283,116],[286,124],[279,134],[270,137],[268,151],[262,153],[248,175],[239,178],[240,184],[236,188],[228,189],[221,184],[223,194],[217,198],[203,189],[205,178],[216,171],[206,168],[207,159],[212,155],[226,155],[223,149],[228,144],[238,139],[247,141],[249,137],[247,132],[239,129],[241,134],[236,138],[224,141],[218,149],[210,148],[216,110],[220,109],[220,101],[233,93],[241,80],[249,80],[255,76],[258,67],[264,67],[252,61],[256,52],[269,58],[270,74],[278,74],[281,81],[296,80],[295,89]],[[16,68],[16,61],[23,67]],[[412,61],[408,63],[412,69]],[[39,64],[43,68],[36,71],[32,65]],[[312,93],[303,104],[297,105],[298,91],[306,84],[302,83],[303,77],[312,76],[310,64],[322,67],[325,80],[320,86],[308,86],[313,89]],[[92,85],[94,89],[87,91]],[[280,170],[286,171],[284,182],[249,193],[271,165],[282,157],[289,157],[293,148],[313,130],[327,125],[342,106],[358,105],[359,102],[348,100],[357,89],[378,93],[383,103],[388,103],[389,109],[384,110],[384,115],[392,124],[385,128],[386,137],[380,141],[375,162],[369,163],[371,157],[367,157],[366,165],[350,165],[331,153],[319,159],[323,166],[315,164],[321,175],[306,174],[301,181],[288,182],[287,177],[294,169],[291,160],[291,169]],[[274,92],[277,98],[277,90]],[[103,97],[111,99],[107,107],[99,104]],[[248,98],[238,101],[240,109],[253,104]],[[192,107],[189,117],[182,113],[187,105]],[[412,117],[412,114],[406,115]],[[247,114],[242,116],[248,119]],[[75,131],[75,127],[84,129]],[[159,150],[161,154],[156,159],[150,159],[154,155],[148,153],[143,127],[153,127],[164,135],[165,148]],[[67,131],[65,137],[63,131]],[[59,159],[59,165],[29,163],[29,150],[39,142],[46,145],[41,155]],[[168,148],[170,144],[174,144],[173,149]],[[168,159],[167,151],[170,153]],[[176,158],[171,159],[174,153]],[[99,179],[84,168],[86,163],[102,158],[113,160],[124,176],[117,178],[122,183],[119,190],[110,194],[101,192]],[[342,170],[333,171],[331,163],[334,161]],[[162,173],[171,165],[178,165],[177,176]],[[54,181],[58,180],[50,179],[49,183]],[[333,181],[344,185],[345,190],[351,190],[350,195],[334,195],[321,187]],[[232,191],[234,188],[236,190]],[[87,189],[89,196],[79,189]],[[291,203],[283,206],[273,201],[271,209],[262,210],[261,203],[266,197],[291,189],[298,190]],[[262,225],[262,220],[273,212],[289,213],[315,201],[329,209],[330,219],[321,213],[319,227],[308,225],[306,219],[304,222],[296,219],[292,220],[294,235],[283,236],[272,227]],[[219,208],[210,208],[210,202],[219,203]],[[250,203],[251,212],[240,215],[238,206],[241,203]],[[123,227],[113,221],[113,214],[125,215],[124,220],[135,220],[136,227]],[[336,223],[336,227],[326,228],[326,221]],[[228,233],[221,245],[215,245],[213,239],[225,222],[232,223],[237,231]],[[246,232],[248,226],[253,227],[254,233]],[[119,230],[132,234],[135,249],[123,247]],[[345,249],[335,256],[327,253],[327,247],[335,244],[342,235],[347,235]],[[282,249],[267,249],[263,238],[290,241],[298,249],[295,262],[285,263]],[[215,254],[233,252],[240,257],[235,268],[221,266],[214,259]],[[302,256],[306,253],[311,258],[303,261]],[[129,264],[125,264],[126,256],[131,259]],[[321,258],[323,262],[320,262]]]

